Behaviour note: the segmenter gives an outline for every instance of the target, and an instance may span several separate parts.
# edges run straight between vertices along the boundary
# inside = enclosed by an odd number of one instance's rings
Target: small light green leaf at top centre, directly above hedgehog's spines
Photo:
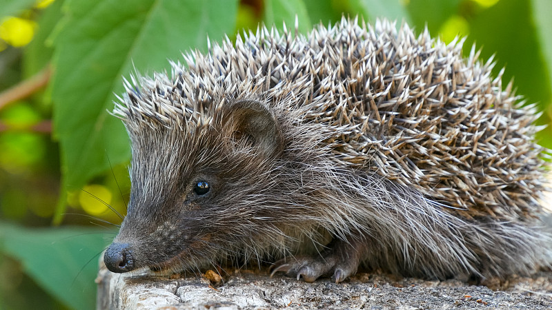
[[[311,19],[308,17],[305,3],[302,0],[266,0],[264,2],[264,23],[268,28],[273,25],[282,29],[282,22],[286,28],[295,28],[295,16],[299,21],[299,32],[311,30]]]

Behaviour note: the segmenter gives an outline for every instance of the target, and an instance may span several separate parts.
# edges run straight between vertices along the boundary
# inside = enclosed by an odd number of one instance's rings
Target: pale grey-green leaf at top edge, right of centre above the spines
[[[376,18],[381,17],[397,20],[399,23],[401,21],[410,23],[408,12],[399,0],[349,0],[349,3],[353,10],[372,23]]]

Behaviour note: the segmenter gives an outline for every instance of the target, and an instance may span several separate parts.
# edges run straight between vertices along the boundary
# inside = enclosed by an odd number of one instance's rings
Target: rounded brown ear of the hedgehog
[[[268,156],[282,152],[282,133],[274,113],[266,105],[255,100],[241,100],[230,103],[227,111],[235,138],[245,139]]]

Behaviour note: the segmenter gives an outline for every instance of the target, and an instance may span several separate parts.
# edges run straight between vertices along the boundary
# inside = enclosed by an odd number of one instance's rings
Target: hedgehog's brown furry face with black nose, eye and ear
[[[267,163],[277,162],[283,143],[263,103],[228,103],[195,130],[127,128],[132,191],[119,235],[104,256],[110,271],[196,267],[267,229],[262,219],[272,217],[255,206],[277,190],[275,169]]]

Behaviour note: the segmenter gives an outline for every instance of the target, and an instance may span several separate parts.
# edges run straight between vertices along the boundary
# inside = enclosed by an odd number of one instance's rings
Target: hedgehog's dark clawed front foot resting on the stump
[[[336,283],[342,282],[357,273],[359,263],[364,258],[367,246],[356,241],[334,239],[319,256],[298,257],[294,261],[279,260],[273,265],[273,276],[277,272],[285,272],[287,276],[303,278],[306,282],[314,282],[321,276],[332,275]]]

